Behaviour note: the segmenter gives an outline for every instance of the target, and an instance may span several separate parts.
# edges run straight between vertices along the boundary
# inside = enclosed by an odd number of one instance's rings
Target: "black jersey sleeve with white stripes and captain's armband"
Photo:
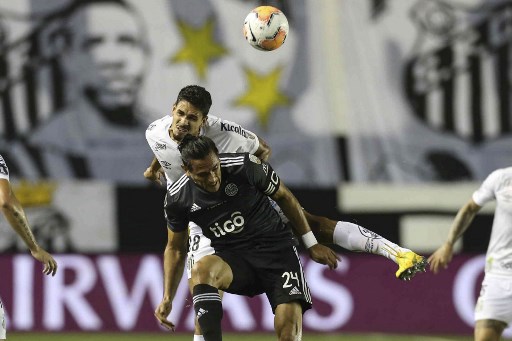
[[[247,154],[245,165],[247,178],[252,185],[269,197],[277,192],[281,180],[270,164],[252,154]]]

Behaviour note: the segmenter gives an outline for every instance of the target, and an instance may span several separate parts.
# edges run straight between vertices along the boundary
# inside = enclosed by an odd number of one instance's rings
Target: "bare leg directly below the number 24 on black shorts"
[[[279,341],[302,340],[302,306],[298,301],[277,306],[274,329]]]

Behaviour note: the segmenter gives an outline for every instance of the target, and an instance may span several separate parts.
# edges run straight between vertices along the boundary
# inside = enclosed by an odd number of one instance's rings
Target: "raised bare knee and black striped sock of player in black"
[[[204,340],[222,340],[222,302],[219,288],[229,287],[233,280],[230,266],[216,255],[208,255],[192,267],[192,300]]]

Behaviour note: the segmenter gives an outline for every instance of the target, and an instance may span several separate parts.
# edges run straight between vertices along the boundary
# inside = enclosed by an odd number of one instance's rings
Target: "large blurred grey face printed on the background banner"
[[[146,32],[124,0],[75,1],[61,29],[69,86],[117,123],[133,114],[148,54]]]

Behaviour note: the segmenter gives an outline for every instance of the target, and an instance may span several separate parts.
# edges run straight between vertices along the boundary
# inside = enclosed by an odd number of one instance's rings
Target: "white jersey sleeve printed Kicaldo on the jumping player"
[[[254,154],[260,147],[258,136],[236,122],[208,115],[205,134],[210,137],[221,153]]]

